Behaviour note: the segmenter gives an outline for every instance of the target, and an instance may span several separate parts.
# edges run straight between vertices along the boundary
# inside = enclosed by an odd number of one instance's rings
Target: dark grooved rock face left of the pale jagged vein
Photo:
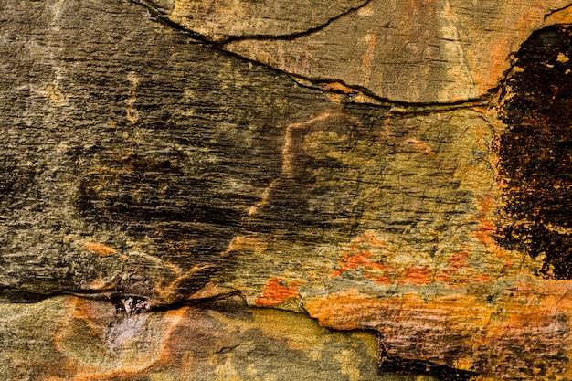
[[[1,288],[198,290],[327,99],[127,2],[2,9]]]

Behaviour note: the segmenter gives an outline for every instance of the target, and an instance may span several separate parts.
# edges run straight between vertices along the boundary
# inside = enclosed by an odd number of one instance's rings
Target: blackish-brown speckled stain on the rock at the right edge
[[[507,249],[546,255],[542,273],[572,279],[572,27],[535,32],[503,90],[500,175]]]

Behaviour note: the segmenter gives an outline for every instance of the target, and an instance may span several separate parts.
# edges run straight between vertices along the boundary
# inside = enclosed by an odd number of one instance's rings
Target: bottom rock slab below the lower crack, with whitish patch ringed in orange
[[[63,296],[0,308],[4,380],[434,380],[379,372],[371,333],[232,298],[133,315]]]

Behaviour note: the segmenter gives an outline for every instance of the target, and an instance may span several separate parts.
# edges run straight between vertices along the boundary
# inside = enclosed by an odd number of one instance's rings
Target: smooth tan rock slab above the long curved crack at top
[[[288,14],[296,15],[298,28],[289,18],[281,19],[284,12],[279,9],[262,23],[275,22],[270,36],[250,38],[255,32],[238,26],[258,27],[258,17],[270,9],[265,2],[228,6],[216,1],[207,8],[202,2],[178,0],[166,14],[210,39],[240,33],[241,38],[223,48],[291,74],[342,82],[390,101],[422,103],[486,95],[498,86],[511,55],[531,32],[546,22],[570,21],[567,0],[369,0],[349,12],[349,3],[335,4],[328,12],[341,16],[316,28],[315,13],[305,11],[308,5],[293,3]],[[311,6],[319,9],[321,3]],[[249,7],[256,9],[241,13]],[[328,12],[323,18],[331,16]],[[304,23],[306,33],[300,31]]]

